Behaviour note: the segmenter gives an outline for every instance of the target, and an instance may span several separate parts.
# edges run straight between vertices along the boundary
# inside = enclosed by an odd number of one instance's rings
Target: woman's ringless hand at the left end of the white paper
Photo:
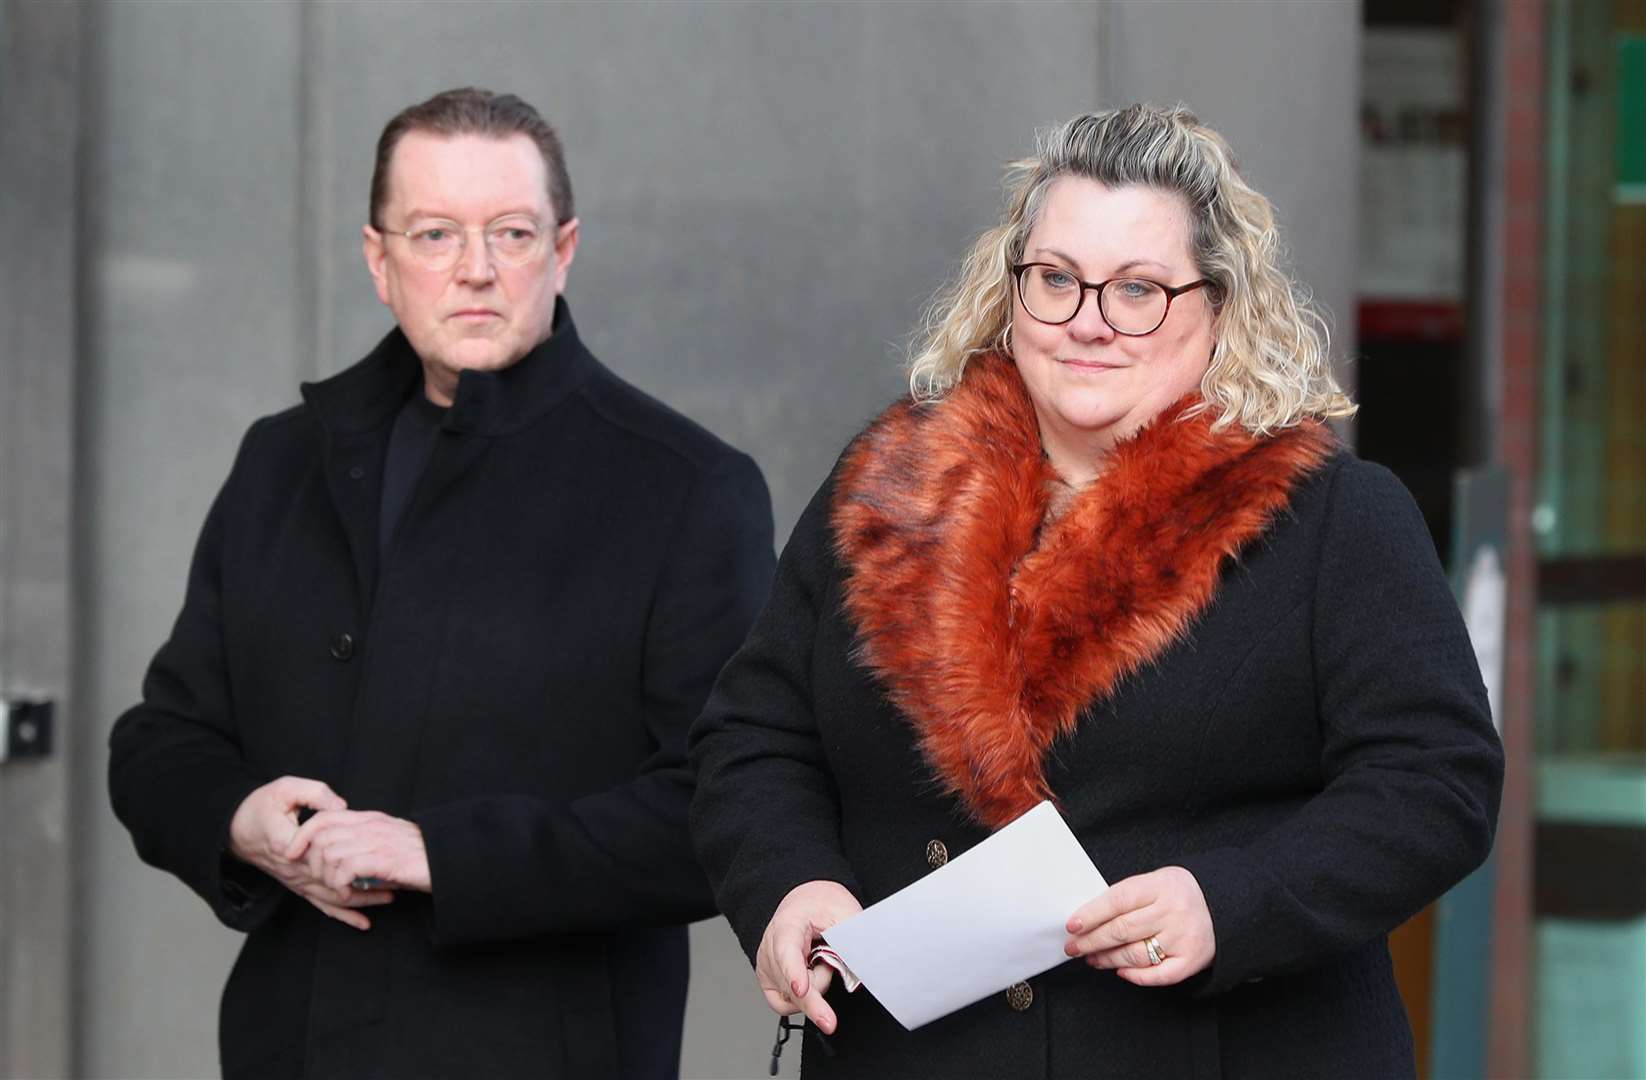
[[[788,891],[765,924],[760,948],[754,955],[754,978],[774,1012],[805,1012],[825,1036],[835,1034],[835,1009],[823,1001],[835,968],[826,963],[815,968],[808,965],[811,943],[823,930],[861,910],[858,897],[838,881],[807,881]]]

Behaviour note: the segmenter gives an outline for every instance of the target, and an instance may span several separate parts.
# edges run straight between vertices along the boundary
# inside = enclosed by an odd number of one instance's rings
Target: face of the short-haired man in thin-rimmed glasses
[[[546,234],[525,265],[497,262],[482,234],[509,214],[535,217]],[[428,268],[398,235],[431,219],[467,229],[456,265]],[[578,222],[555,226],[546,166],[530,138],[407,133],[388,163],[380,221],[384,232],[365,226],[365,265],[423,361],[431,398],[449,403],[459,372],[509,367],[548,338]]]

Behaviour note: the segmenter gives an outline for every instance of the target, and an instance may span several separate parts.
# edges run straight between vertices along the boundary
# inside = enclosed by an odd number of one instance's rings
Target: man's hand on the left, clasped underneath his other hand
[[[319,780],[280,777],[270,780],[245,797],[229,822],[229,851],[242,863],[250,863],[305,901],[337,922],[356,930],[370,930],[372,920],[357,907],[388,904],[395,894],[387,889],[354,889],[328,886],[305,863],[286,858],[286,846],[298,835],[298,810],[344,812],[346,803],[337,792]]]

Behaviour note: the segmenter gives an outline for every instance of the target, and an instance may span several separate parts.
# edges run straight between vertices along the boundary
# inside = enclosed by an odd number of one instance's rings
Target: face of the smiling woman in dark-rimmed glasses
[[[1200,278],[1182,198],[1081,176],[1052,183],[1022,262],[1052,263],[1091,283],[1139,277],[1175,288]],[[1014,290],[1012,354],[1053,461],[1055,449],[1075,448],[1101,458],[1200,385],[1211,359],[1211,303],[1205,288],[1183,293],[1157,331],[1128,338],[1103,321],[1091,290],[1060,326],[1024,311]]]

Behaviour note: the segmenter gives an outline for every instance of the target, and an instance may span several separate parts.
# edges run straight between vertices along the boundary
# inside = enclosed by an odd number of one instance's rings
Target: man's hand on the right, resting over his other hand
[[[423,830],[377,810],[326,808],[291,836],[281,854],[303,859],[332,889],[372,878],[392,889],[430,892]]]

